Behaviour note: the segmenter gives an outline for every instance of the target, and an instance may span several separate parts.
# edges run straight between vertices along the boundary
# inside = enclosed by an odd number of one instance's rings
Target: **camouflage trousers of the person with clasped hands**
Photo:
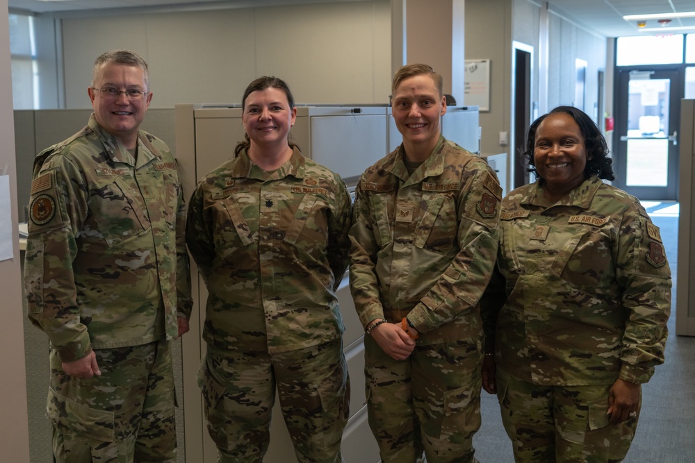
[[[475,463],[482,344],[416,345],[397,361],[365,336],[369,426],[384,463]]]

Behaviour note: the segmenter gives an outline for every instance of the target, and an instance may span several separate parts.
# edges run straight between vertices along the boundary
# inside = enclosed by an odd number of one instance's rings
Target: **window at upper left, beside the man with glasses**
[[[36,109],[36,73],[33,41],[33,18],[9,15],[10,58],[12,62],[12,96],[15,109]]]

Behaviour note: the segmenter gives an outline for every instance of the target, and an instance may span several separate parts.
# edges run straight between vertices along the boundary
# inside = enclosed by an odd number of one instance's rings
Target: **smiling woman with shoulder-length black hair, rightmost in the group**
[[[502,201],[496,273],[481,301],[483,388],[516,462],[620,462],[641,383],[664,362],[671,271],[659,229],[616,187],[598,127],[560,106],[534,121],[535,183]]]

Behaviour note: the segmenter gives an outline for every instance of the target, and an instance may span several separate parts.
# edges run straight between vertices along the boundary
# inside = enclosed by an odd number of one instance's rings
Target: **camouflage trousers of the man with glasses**
[[[51,349],[47,414],[58,463],[175,463],[171,342],[97,349],[101,376],[63,372]]]

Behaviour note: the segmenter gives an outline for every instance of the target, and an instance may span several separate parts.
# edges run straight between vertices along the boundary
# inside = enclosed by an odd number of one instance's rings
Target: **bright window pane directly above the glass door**
[[[618,37],[616,65],[671,65],[683,62],[682,35]]]

